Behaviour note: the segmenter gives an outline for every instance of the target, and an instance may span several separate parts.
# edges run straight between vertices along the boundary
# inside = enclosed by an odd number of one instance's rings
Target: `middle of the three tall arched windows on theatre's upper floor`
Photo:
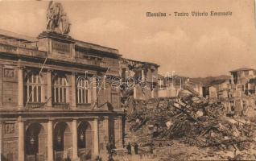
[[[66,103],[68,93],[68,81],[66,76],[57,75],[53,79],[53,103]]]

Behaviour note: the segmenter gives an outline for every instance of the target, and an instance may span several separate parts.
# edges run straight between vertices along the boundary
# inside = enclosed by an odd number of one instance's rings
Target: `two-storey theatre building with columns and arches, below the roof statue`
[[[118,50],[54,31],[0,31],[2,161],[86,160],[122,147]]]

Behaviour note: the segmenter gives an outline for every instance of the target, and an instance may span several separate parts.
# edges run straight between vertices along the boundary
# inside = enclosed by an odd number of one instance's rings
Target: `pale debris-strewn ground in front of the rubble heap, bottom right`
[[[189,146],[182,140],[171,141],[171,146],[163,147],[168,149],[166,154],[155,149],[154,153],[161,154],[159,160],[256,160],[256,145],[251,144],[249,150],[238,151],[234,147],[229,150],[220,150],[220,147],[196,147]]]

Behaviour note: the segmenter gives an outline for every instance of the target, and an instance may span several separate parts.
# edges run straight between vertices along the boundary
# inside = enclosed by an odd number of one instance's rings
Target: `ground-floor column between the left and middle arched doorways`
[[[47,161],[53,161],[52,135],[52,120],[49,120],[47,123]]]

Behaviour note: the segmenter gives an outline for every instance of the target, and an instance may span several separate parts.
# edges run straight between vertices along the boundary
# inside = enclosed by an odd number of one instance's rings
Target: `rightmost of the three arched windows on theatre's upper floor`
[[[86,104],[91,102],[89,81],[81,77],[77,81],[77,103]]]

